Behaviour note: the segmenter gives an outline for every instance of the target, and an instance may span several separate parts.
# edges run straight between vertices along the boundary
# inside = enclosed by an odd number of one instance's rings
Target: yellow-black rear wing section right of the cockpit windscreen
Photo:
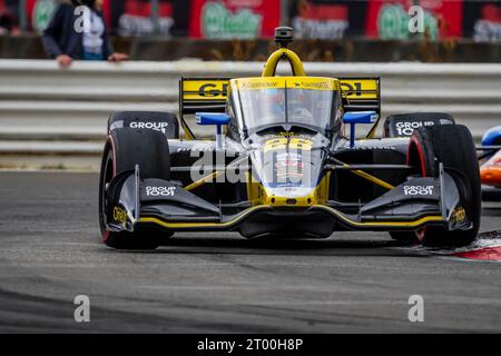
[[[374,138],[381,119],[381,86],[379,77],[337,78],[341,85],[341,98],[344,111],[375,111],[377,120],[367,134]]]

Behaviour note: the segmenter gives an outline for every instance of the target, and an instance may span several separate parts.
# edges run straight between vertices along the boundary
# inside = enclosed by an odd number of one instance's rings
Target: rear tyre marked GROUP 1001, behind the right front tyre
[[[420,127],[454,125],[451,115],[444,112],[410,112],[391,115],[384,121],[384,137],[410,137]]]

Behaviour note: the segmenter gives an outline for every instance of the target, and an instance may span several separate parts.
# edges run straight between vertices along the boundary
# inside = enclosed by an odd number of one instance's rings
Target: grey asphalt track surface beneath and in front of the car
[[[1,333],[501,332],[501,264],[386,234],[246,240],[179,234],[150,253],[100,244],[98,177],[0,172]],[[499,207],[499,208],[498,208]],[[501,229],[501,206],[482,231]],[[73,298],[90,298],[76,323]],[[410,323],[411,295],[424,322]]]

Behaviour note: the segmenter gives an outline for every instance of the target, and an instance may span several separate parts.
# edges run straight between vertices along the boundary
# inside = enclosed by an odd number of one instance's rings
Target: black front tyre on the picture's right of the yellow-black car
[[[481,189],[475,146],[465,126],[423,127],[411,136],[407,164],[419,167],[419,175],[439,177],[440,162],[454,178],[460,205],[473,226],[469,230],[425,227],[418,231],[418,239],[426,246],[469,245],[475,239],[480,227]]]

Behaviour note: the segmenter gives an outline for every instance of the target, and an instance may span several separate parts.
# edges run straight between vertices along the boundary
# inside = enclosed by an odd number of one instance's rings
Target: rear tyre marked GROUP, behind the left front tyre
[[[167,138],[179,138],[179,121],[176,115],[163,111],[118,111],[108,119],[108,135],[118,128],[151,129]]]

